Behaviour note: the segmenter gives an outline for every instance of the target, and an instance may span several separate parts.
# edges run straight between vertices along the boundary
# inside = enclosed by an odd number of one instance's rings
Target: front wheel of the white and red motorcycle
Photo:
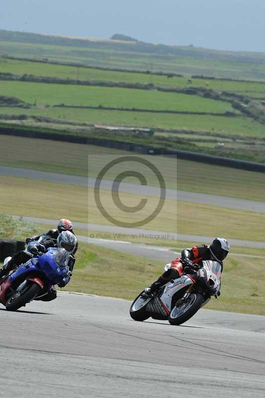
[[[178,300],[169,314],[168,321],[171,325],[181,325],[190,319],[202,306],[203,295],[192,292],[183,302]]]

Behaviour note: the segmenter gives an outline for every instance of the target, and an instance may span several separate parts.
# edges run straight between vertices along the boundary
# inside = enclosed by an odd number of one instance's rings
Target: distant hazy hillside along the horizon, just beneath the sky
[[[121,38],[123,35],[119,35]],[[126,38],[126,36],[124,36]],[[217,51],[127,40],[95,40],[0,30],[0,54],[83,65],[265,80],[265,53]]]

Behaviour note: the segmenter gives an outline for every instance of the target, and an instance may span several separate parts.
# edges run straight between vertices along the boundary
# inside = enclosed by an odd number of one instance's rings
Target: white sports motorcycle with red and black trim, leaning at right
[[[168,320],[171,325],[180,325],[190,319],[212,296],[218,298],[221,287],[222,267],[217,261],[203,261],[194,274],[183,274],[168,282],[151,296],[141,292],[130,308],[134,320]],[[165,266],[165,271],[170,264]]]

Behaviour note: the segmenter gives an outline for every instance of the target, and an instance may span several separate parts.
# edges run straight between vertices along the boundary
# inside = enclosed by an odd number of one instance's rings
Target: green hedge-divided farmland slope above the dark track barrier
[[[265,162],[264,102],[264,82],[0,57],[0,120],[39,131]]]

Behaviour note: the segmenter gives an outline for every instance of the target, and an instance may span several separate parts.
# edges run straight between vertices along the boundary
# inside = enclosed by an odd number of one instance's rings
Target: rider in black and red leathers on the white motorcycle
[[[215,238],[210,245],[193,246],[181,252],[181,258],[176,258],[170,264],[170,268],[150,286],[145,288],[143,296],[149,296],[157,292],[162,286],[172,279],[179,278],[183,272],[186,274],[194,273],[198,266],[202,266],[203,260],[217,261],[221,264],[223,271],[223,260],[229,253],[230,245],[224,238]],[[219,292],[220,295],[220,292]]]

